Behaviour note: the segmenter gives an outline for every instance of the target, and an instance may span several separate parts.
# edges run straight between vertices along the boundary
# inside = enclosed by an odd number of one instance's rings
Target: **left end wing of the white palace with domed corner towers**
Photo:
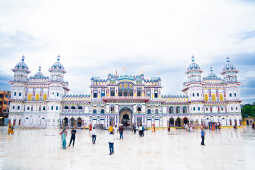
[[[12,71],[14,79],[11,85],[11,103],[9,119],[22,127],[57,127],[62,110],[63,95],[68,92],[68,83],[64,82],[64,67],[59,61],[49,69],[50,78],[38,72],[31,77],[22,57]],[[56,74],[61,77],[56,79]]]

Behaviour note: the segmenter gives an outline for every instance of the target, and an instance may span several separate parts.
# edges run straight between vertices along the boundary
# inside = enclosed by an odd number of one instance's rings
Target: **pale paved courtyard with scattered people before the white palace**
[[[70,131],[68,131],[68,142]],[[106,131],[97,131],[92,145],[87,130],[78,130],[74,148],[61,149],[58,130],[16,129],[13,136],[0,128],[0,170],[253,170],[255,131],[250,128],[206,131],[206,146],[200,131],[145,132],[140,138],[124,131],[110,156]]]

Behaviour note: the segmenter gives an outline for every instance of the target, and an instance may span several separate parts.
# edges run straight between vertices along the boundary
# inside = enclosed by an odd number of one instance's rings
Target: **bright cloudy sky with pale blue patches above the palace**
[[[255,101],[253,0],[0,0],[0,89],[25,55],[48,75],[57,55],[72,93],[88,93],[92,76],[160,76],[166,94],[181,94],[195,56],[219,74],[225,58],[240,70],[241,96]]]

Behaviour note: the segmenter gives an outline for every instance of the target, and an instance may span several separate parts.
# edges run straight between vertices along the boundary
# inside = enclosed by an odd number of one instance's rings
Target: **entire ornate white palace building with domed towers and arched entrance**
[[[28,77],[24,58],[13,72],[10,119],[21,127],[108,127],[119,123],[167,127],[210,122],[240,125],[240,83],[238,71],[229,59],[220,78],[213,68],[203,77],[193,57],[186,71],[183,95],[162,95],[159,77],[117,73],[106,79],[92,77],[89,95],[69,95],[59,58],[49,69],[50,77],[45,77],[41,68]]]

